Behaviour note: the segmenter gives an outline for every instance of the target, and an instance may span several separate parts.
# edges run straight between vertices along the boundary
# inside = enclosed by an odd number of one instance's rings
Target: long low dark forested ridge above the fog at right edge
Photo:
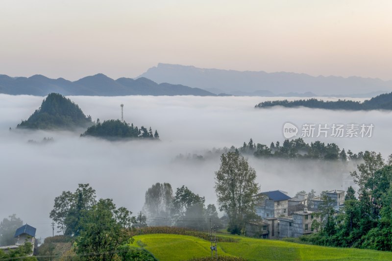
[[[273,106],[283,106],[283,107],[308,107],[317,109],[327,109],[327,110],[392,110],[392,93],[382,94],[375,96],[364,102],[352,101],[352,100],[338,100],[338,101],[323,101],[315,98],[303,99],[303,100],[274,100],[274,101],[264,101],[255,106],[255,108],[270,108]]]

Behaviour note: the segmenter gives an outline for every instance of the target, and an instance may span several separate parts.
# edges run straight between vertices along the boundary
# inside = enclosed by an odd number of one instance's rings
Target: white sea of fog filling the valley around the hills
[[[15,127],[37,109],[44,97],[0,94],[0,220],[17,214],[37,228],[38,237],[51,235],[49,212],[54,198],[64,190],[74,191],[78,183],[89,183],[98,198],[113,198],[118,207],[134,214],[144,204],[145,192],[156,182],[169,182],[173,190],[187,186],[205,196],[206,204],[217,204],[215,171],[220,153],[213,148],[239,147],[253,141],[269,145],[284,140],[285,122],[372,123],[370,138],[304,138],[305,142],[335,142],[354,153],[365,150],[392,153],[391,114],[389,111],[326,111],[306,108],[255,109],[268,97],[201,96],[70,96],[86,115],[95,120],[119,119],[124,104],[124,119],[137,126],[152,127],[160,142],[108,142],[81,138],[76,132],[18,131]],[[276,98],[276,97],[274,97]],[[294,99],[290,97],[289,99]],[[9,127],[13,130],[9,131]],[[54,139],[40,143],[44,137]],[[28,142],[29,140],[37,143]],[[202,155],[204,161],[178,158]],[[191,156],[192,157],[192,156]],[[343,170],[325,162],[263,160],[248,156],[257,173],[262,191],[342,189]]]

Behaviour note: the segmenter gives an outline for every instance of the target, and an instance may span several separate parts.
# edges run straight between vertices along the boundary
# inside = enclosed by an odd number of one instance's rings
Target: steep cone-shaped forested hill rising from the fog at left
[[[85,128],[92,123],[77,104],[60,94],[49,94],[27,120],[17,128],[25,129],[74,129]]]

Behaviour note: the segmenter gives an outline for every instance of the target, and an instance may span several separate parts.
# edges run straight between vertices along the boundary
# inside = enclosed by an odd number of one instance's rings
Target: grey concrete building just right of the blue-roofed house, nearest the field
[[[294,212],[292,216],[279,217],[279,237],[300,237],[315,233],[312,222],[317,218],[315,211],[305,208],[303,211]]]

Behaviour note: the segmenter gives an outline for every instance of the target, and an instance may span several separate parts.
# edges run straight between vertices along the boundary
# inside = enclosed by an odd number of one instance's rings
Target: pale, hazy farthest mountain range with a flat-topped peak
[[[371,97],[392,91],[392,81],[377,78],[311,76],[304,73],[265,71],[233,71],[202,69],[194,66],[158,64],[140,77],[157,83],[170,82],[198,87],[209,92],[233,95],[309,96],[312,93],[325,96]]]

